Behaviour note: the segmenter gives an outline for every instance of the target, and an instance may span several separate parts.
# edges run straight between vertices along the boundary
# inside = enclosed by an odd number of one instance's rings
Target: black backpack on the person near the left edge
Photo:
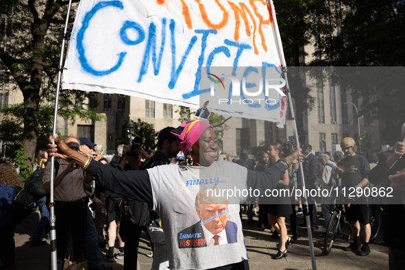
[[[34,198],[23,188],[16,186],[12,194],[12,216],[17,224],[29,216],[34,208]]]

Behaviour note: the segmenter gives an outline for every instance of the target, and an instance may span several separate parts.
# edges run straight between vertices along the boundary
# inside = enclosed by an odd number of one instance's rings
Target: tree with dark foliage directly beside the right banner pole
[[[305,72],[299,66],[306,66],[308,53],[305,46],[312,40],[321,42],[322,39],[317,37],[330,29],[323,23],[323,18],[328,17],[328,9],[325,1],[320,0],[274,0],[274,6],[286,65],[293,66],[289,68],[288,79],[291,97],[295,101],[297,132],[305,141],[303,117],[314,108],[315,99],[310,95],[310,88],[306,87]]]

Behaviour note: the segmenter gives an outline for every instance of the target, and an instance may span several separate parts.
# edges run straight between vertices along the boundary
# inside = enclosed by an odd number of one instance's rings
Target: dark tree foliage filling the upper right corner
[[[329,3],[334,7],[330,10],[330,24],[335,30],[324,36],[317,47],[319,57],[312,64],[404,66],[404,1],[335,0]],[[345,81],[341,89],[352,90],[354,98],[362,97],[360,116],[369,122],[380,120],[384,126],[382,138],[386,143],[395,143],[405,119],[405,91],[398,87],[403,86],[404,69],[378,69],[378,75],[372,71],[369,76],[367,73],[365,69],[340,71],[339,82]]]

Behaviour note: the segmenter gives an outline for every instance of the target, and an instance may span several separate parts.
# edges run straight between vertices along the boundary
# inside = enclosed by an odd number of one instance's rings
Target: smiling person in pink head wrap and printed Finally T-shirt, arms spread
[[[289,162],[297,160],[298,151],[267,171],[254,172],[232,162],[214,161],[217,137],[206,121],[184,122],[171,133],[177,137],[187,162],[147,171],[119,171],[104,166],[73,151],[57,135],[56,145],[49,144],[48,153],[71,158],[88,175],[97,175],[99,184],[151,204],[162,219],[170,245],[169,268],[249,269],[239,218],[239,204],[246,197],[217,197],[213,193],[228,188],[257,188],[264,193],[276,186]]]

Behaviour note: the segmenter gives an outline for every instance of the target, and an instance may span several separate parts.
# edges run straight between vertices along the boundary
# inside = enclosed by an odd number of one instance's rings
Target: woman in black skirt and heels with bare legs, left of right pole
[[[280,143],[271,143],[269,145],[269,158],[272,164],[275,164],[281,160],[283,156],[282,145]],[[278,191],[289,189],[289,173],[284,172],[278,185],[276,186]],[[280,193],[279,193],[280,194]],[[284,193],[286,194],[286,193]],[[291,209],[291,199],[286,196],[275,197],[273,204],[267,207],[267,212],[269,213],[269,223],[273,228],[280,234],[280,246],[278,247],[278,253],[273,256],[273,259],[278,260],[287,256],[287,248],[290,243],[293,243],[293,239],[287,235],[286,228],[286,217],[293,212]]]

